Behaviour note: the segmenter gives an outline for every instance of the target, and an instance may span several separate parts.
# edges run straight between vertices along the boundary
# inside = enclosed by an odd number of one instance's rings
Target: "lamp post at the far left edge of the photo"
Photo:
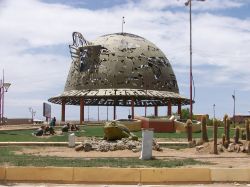
[[[4,70],[3,79],[0,80],[0,124],[4,124],[4,93],[8,92],[10,83],[4,82]]]

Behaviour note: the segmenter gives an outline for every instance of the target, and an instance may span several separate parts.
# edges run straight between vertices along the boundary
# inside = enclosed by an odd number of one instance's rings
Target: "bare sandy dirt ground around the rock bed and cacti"
[[[22,129],[37,128],[36,125],[23,125]],[[0,126],[0,130],[17,130],[20,129],[19,126]],[[159,139],[157,141],[163,141]],[[204,148],[197,150],[196,148],[185,148],[185,149],[169,149],[163,148],[162,152],[153,151],[153,156],[157,159],[168,158],[168,159],[184,159],[193,158],[196,160],[210,162],[213,165],[195,165],[195,166],[185,166],[185,167],[219,167],[219,168],[250,168],[250,155],[246,153],[236,153],[236,152],[221,152],[218,155],[210,154],[212,147],[211,144],[204,144]],[[41,156],[58,156],[58,157],[85,157],[85,158],[104,158],[104,157],[134,157],[138,158],[140,152],[134,153],[130,150],[119,150],[119,151],[109,151],[109,152],[97,152],[97,151],[75,151],[68,147],[51,147],[51,146],[39,146],[39,147],[24,147],[21,151],[16,154],[28,153],[32,155]]]

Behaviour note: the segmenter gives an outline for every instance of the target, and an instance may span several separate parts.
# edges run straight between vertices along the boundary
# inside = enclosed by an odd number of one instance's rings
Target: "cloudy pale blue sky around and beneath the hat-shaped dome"
[[[189,9],[185,0],[1,0],[0,76],[12,85],[5,93],[5,116],[44,119],[42,104],[63,92],[71,64],[72,32],[88,40],[124,31],[158,46],[170,60],[180,94],[189,98]],[[194,113],[250,114],[250,1],[192,1]],[[51,104],[60,119],[60,105]],[[189,106],[186,106],[189,107]],[[100,107],[100,119],[106,119]],[[112,118],[112,107],[108,108]],[[175,111],[176,108],[173,108]],[[160,107],[159,115],[165,115]],[[118,107],[126,118],[128,107]],[[136,108],[143,115],[143,108]],[[153,109],[147,110],[153,114]],[[97,119],[97,107],[85,107],[85,119]],[[66,120],[79,119],[79,106],[66,107]]]

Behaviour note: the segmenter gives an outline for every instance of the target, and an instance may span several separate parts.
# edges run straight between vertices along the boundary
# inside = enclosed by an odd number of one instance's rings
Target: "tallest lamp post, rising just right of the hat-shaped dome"
[[[196,0],[196,1],[205,1],[205,0]],[[189,39],[190,39],[190,48],[189,48],[189,54],[190,54],[190,119],[192,120],[193,117],[193,72],[192,72],[192,0],[188,0],[185,3],[185,6],[189,6]]]

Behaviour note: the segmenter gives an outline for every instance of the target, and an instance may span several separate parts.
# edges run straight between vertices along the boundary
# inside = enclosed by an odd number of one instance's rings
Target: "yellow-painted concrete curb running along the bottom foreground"
[[[0,167],[0,182],[168,184],[249,182],[250,168]]]

